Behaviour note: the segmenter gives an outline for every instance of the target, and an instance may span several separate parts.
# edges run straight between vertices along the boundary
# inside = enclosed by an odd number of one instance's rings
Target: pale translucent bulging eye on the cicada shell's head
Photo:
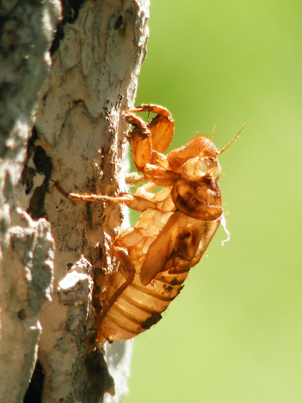
[[[186,161],[181,168],[183,176],[188,180],[198,181],[205,176],[217,180],[220,176],[220,166],[216,158],[195,157]]]

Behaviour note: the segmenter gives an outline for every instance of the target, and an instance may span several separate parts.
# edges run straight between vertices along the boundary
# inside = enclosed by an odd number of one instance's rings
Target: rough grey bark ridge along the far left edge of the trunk
[[[51,299],[54,241],[50,225],[17,207],[39,90],[59,2],[2,2],[0,46],[0,401],[19,402],[31,379],[41,334],[39,313]]]

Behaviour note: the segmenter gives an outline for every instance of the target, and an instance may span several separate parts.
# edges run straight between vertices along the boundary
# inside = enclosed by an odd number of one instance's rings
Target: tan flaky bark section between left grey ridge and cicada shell
[[[43,403],[102,401],[104,392],[114,394],[115,389],[120,399],[126,389],[124,381],[114,386],[103,346],[88,352],[84,341],[94,320],[92,305],[98,309],[110,281],[104,274],[114,270],[110,246],[123,209],[72,203],[51,180],[67,191],[113,195],[123,190],[127,125],[122,112],[134,106],[146,51],[148,2],[70,5],[64,7],[52,45],[53,64],[40,96],[23,194],[20,190],[29,214],[50,222],[56,245],[52,301],[40,316]],[[122,346],[113,356],[128,357]],[[128,360],[117,361],[124,363],[118,371],[125,379]]]

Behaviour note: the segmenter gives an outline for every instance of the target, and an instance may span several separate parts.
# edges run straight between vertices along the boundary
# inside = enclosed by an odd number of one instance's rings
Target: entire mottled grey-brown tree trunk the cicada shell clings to
[[[134,105],[148,2],[3,0],[0,13],[0,401],[94,403],[116,389],[105,401],[118,402],[127,345],[106,354],[114,386],[103,346],[83,340],[123,210],[72,203],[51,180],[123,190],[122,111]]]

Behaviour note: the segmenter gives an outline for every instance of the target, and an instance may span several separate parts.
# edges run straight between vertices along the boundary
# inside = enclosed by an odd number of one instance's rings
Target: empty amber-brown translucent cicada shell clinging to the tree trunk
[[[145,123],[137,112],[156,116]],[[221,151],[211,139],[198,136],[166,157],[162,153],[174,135],[174,120],[167,109],[141,105],[124,113],[124,118],[134,126],[128,141],[142,174],[139,180],[147,181],[135,194],[81,195],[56,184],[71,200],[122,203],[141,214],[113,242],[112,252],[120,264],[97,315],[97,342],[133,338],[157,323],[179,294],[220,224],[218,156],[238,136]]]

